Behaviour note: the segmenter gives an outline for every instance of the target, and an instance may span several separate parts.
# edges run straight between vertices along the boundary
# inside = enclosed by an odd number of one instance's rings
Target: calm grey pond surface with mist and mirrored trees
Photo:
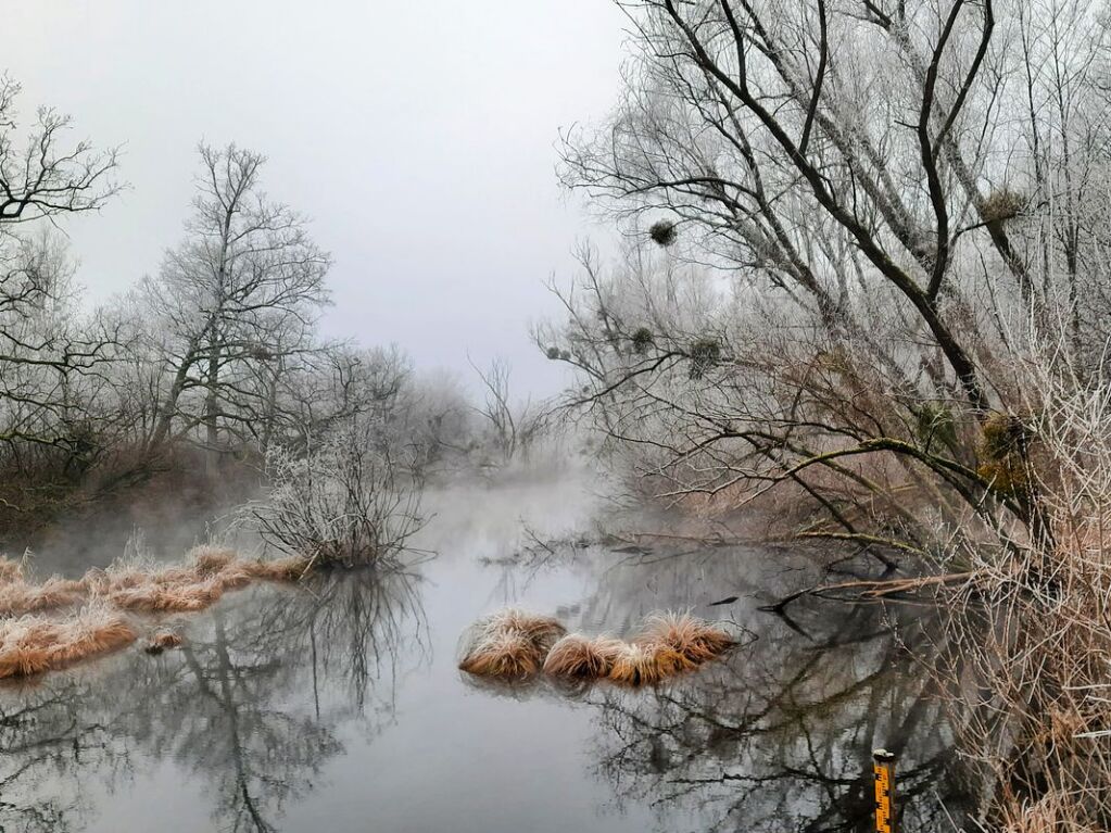
[[[179,651],[0,689],[0,830],[864,831],[879,745],[902,755],[903,829],[952,829],[944,721],[900,649],[913,622],[894,639],[875,606],[759,612],[819,578],[783,550],[514,558],[529,530],[597,538],[573,485],[429,504],[438,555],[408,572],[231,593],[176,620]],[[40,569],[76,569],[80,538],[57,535]],[[753,639],[654,691],[476,686],[459,636],[507,603],[615,634],[691,608]]]

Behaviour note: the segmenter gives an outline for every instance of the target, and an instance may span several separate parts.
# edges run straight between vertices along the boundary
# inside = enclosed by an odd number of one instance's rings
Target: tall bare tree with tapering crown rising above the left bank
[[[149,445],[203,426],[214,453],[221,431],[239,433],[266,408],[244,384],[251,369],[309,349],[330,258],[300,214],[262,192],[261,155],[232,144],[200,157],[188,237],[146,284],[170,377]]]

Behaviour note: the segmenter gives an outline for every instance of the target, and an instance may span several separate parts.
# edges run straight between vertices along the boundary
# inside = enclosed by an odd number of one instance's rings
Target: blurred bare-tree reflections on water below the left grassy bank
[[[380,731],[397,684],[427,659],[419,576],[404,571],[257,588],[193,620],[180,651],[138,650],[0,692],[0,830],[83,825],[79,791],[143,757],[211,785],[221,831],[268,833],[343,752],[338,725]],[[47,785],[57,785],[49,795]]]

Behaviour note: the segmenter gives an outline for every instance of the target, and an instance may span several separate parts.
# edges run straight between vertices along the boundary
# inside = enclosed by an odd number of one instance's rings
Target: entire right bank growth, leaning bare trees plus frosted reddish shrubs
[[[667,500],[788,488],[802,536],[942,573],[978,819],[1105,829],[1102,10],[622,8],[627,88],[563,170],[633,241],[538,334],[569,404]]]

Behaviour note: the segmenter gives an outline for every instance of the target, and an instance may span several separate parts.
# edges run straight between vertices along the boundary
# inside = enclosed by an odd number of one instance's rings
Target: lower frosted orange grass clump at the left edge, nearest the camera
[[[119,613],[89,605],[64,620],[21,616],[0,622],[0,678],[29,676],[123,648],[136,631]]]

